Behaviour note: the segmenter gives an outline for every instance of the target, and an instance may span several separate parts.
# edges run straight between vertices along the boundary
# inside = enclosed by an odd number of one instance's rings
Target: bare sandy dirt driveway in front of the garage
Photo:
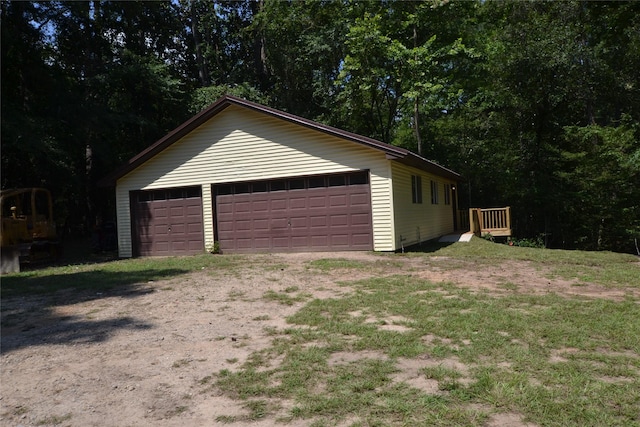
[[[237,369],[251,353],[266,348],[271,337],[265,328],[285,328],[286,316],[304,304],[270,301],[263,298],[268,290],[295,286],[314,298],[328,298],[348,290],[338,285],[344,280],[411,274],[496,293],[505,292],[508,283],[517,292],[624,297],[622,291],[548,279],[526,262],[476,270],[471,263],[452,268],[452,263],[464,263],[459,260],[432,257],[425,265],[419,257],[406,256],[394,257],[383,270],[349,270],[344,277],[339,269],[310,270],[308,262],[329,257],[380,261],[381,256],[279,254],[268,257],[270,265],[278,267],[252,268],[264,264],[266,256],[261,257],[263,261],[249,258],[246,267],[233,271],[204,269],[126,290],[5,299],[0,425],[210,426],[218,424],[220,415],[242,414],[241,402],[202,393],[199,382],[222,369]],[[6,316],[11,322],[5,322]],[[398,378],[426,391],[434,389],[428,380],[417,378],[415,363],[399,361]],[[242,425],[282,424],[266,419]],[[526,424],[518,414],[501,414],[489,425]]]

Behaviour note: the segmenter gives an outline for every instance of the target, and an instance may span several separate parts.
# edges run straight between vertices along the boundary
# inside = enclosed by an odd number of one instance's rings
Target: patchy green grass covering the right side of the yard
[[[640,286],[637,258],[612,253],[477,241],[398,256],[420,257],[425,264],[432,256],[480,265],[528,261],[603,288]],[[348,277],[349,269],[362,268],[338,261],[322,260],[321,269],[344,269]],[[264,406],[262,416],[314,426],[345,420],[480,426],[501,412],[536,425],[640,426],[637,298],[497,296],[406,275],[344,286],[351,292],[343,297],[309,301],[288,318],[291,327],[275,334],[270,348],[237,371],[216,374],[213,387],[247,402],[289,400],[293,407],[285,415]],[[518,288],[511,282],[500,286]],[[391,316],[404,319],[409,329],[382,329]],[[336,362],[337,354],[352,359]],[[401,360],[417,361],[422,368],[414,375],[437,381],[438,391],[398,380]]]

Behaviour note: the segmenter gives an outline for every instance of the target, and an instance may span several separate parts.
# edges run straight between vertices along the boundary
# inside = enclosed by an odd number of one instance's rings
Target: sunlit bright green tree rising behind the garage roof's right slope
[[[430,155],[420,129],[454,108],[454,77],[473,55],[462,40],[473,3],[392,2],[352,7],[336,81],[341,125]]]

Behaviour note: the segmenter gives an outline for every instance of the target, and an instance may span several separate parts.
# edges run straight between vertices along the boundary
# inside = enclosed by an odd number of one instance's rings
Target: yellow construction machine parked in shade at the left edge
[[[0,212],[2,274],[20,271],[21,263],[55,259],[58,256],[60,243],[49,190],[2,190]]]

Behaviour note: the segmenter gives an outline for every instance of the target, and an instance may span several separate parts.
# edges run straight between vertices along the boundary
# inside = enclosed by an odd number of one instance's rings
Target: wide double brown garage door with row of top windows
[[[372,250],[369,173],[214,186],[225,253]]]

